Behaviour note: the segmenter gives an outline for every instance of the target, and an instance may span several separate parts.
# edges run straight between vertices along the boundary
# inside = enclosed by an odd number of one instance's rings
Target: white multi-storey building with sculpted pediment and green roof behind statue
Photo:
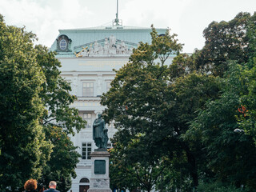
[[[157,31],[158,34],[166,33],[166,29]],[[100,96],[110,89],[115,76],[113,69],[118,70],[128,62],[138,42],[151,42],[150,32],[150,28],[122,26],[119,21],[113,26],[59,30],[58,38],[50,48],[57,51],[56,57],[62,63],[61,75],[71,82],[72,94],[78,98],[73,106],[87,121],[85,129],[71,138],[82,154],[76,168],[77,178],[72,181],[73,192],[83,192],[90,187],[89,154],[96,148],[92,123],[105,108],[100,105]],[[113,125],[108,129],[109,138],[112,138]]]

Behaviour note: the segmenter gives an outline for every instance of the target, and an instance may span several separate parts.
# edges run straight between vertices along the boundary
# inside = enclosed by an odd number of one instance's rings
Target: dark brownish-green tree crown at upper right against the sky
[[[228,70],[228,60],[248,62],[251,39],[248,26],[254,25],[255,15],[241,12],[230,22],[211,22],[203,31],[205,46],[194,53],[194,68],[223,76]]]

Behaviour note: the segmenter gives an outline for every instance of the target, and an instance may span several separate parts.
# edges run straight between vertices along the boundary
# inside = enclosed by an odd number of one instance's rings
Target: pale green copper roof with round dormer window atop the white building
[[[167,29],[156,30],[158,34],[165,34]],[[126,54],[128,54],[128,50],[136,47],[138,42],[150,43],[150,32],[151,28],[135,26],[98,26],[84,29],[59,30],[58,37],[50,47],[50,50],[57,51],[58,58],[76,57],[76,54],[83,49],[87,49],[86,51],[88,52],[90,47],[94,48],[95,42],[99,44],[103,51],[104,43],[106,41],[110,42],[110,37],[114,37],[116,45],[113,46],[119,46],[121,50],[121,44],[123,43],[122,45],[126,47]],[[120,55],[123,55],[121,51]]]

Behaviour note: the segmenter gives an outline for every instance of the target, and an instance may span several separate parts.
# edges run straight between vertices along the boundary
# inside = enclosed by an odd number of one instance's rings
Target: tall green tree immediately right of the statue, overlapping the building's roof
[[[106,121],[114,120],[118,128],[114,136],[118,157],[126,156],[120,158],[122,161],[118,161],[116,166],[127,167],[129,174],[140,183],[139,186],[148,191],[157,179],[154,177],[150,181],[150,173],[154,172],[162,150],[154,143],[162,143],[165,134],[164,131],[156,134],[163,127],[159,118],[168,120],[170,108],[170,102],[165,102],[165,97],[171,95],[166,93],[168,66],[164,64],[168,55],[182,48],[175,36],[170,36],[169,31],[164,36],[158,36],[153,28],[152,44],[140,42],[130,62],[117,72],[110,91],[102,96],[102,105],[108,107]],[[159,59],[157,64],[154,63],[156,59]],[[158,113],[159,110],[162,113]]]

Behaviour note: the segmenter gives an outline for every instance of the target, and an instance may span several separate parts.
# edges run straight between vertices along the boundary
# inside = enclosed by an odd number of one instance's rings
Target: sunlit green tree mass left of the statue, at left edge
[[[25,28],[6,26],[2,16],[0,24],[0,186],[16,190],[33,177],[67,191],[79,157],[67,135],[86,122],[70,108],[75,97],[55,54],[34,46]]]

